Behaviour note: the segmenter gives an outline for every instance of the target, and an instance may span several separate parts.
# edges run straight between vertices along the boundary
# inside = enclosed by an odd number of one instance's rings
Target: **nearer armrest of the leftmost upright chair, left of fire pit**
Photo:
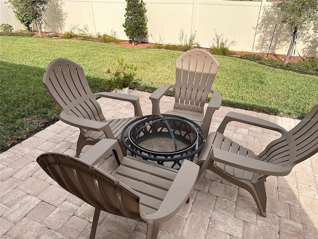
[[[60,119],[65,123],[71,124],[79,128],[84,128],[87,130],[93,130],[97,132],[104,131],[107,138],[115,138],[109,124],[106,122],[79,118],[77,116],[68,115],[65,112],[61,112]]]

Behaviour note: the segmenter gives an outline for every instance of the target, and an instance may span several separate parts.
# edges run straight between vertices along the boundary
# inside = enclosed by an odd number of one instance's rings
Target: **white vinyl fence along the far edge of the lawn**
[[[222,0],[145,0],[148,39],[151,43],[180,44],[180,32],[189,38],[196,33],[201,47],[210,48],[216,34],[228,42],[231,50],[286,54],[290,30],[281,23],[281,12],[275,2]],[[75,26],[92,34],[116,32],[127,40],[122,26],[125,0],[51,0],[44,20],[44,31],[63,33]],[[15,30],[23,25],[12,9],[0,0],[0,23]],[[275,28],[276,25],[276,28]],[[275,34],[273,35],[275,28]],[[272,39],[273,37],[273,39]],[[302,56],[318,56],[318,29],[299,32],[297,51]],[[296,51],[296,55],[298,55]]]

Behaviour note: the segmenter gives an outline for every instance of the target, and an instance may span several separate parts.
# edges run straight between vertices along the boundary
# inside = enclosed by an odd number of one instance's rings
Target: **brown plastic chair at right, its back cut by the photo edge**
[[[273,140],[259,155],[225,137],[230,121],[239,121],[282,135]],[[290,131],[255,117],[230,112],[216,132],[209,135],[198,159],[200,175],[207,168],[229,182],[247,190],[254,198],[261,216],[266,217],[264,181],[269,175],[286,176],[293,167],[318,152],[318,104]]]

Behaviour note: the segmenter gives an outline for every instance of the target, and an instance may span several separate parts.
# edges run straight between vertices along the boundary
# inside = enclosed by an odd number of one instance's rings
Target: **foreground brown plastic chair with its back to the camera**
[[[114,152],[120,162],[113,176],[94,166]],[[185,160],[179,171],[132,156],[124,157],[117,140],[102,139],[79,158],[44,153],[37,162],[61,187],[95,207],[90,239],[100,211],[148,224],[147,239],[156,239],[162,223],[189,198],[199,166]]]

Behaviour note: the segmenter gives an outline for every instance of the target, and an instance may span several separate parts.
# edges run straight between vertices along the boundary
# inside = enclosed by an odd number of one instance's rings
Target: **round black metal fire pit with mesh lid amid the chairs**
[[[125,142],[127,137],[130,145]],[[206,136],[203,129],[190,119],[151,115],[127,124],[121,139],[133,155],[179,169],[184,159],[193,161],[194,155],[204,146]]]

